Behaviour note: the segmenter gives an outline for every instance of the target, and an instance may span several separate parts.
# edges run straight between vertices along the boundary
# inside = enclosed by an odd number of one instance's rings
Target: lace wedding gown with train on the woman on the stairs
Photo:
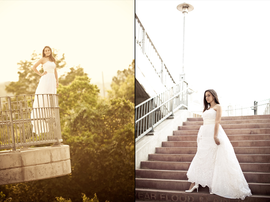
[[[188,182],[208,186],[210,192],[225,198],[251,196],[251,191],[235,156],[232,144],[221,125],[214,141],[217,112],[210,108],[202,113],[203,125],[197,137],[197,153],[187,171]]]

